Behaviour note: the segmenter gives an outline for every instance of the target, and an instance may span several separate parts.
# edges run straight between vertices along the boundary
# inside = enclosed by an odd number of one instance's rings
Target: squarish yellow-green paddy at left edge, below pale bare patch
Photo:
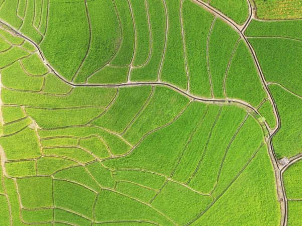
[[[0,144],[7,160],[37,158],[41,155],[38,138],[30,128],[12,136],[1,137]]]

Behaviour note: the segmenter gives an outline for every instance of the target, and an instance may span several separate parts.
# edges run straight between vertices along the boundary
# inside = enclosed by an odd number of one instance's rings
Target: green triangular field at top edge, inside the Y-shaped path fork
[[[245,0],[211,0],[210,5],[239,25],[242,25],[249,16],[249,7]]]

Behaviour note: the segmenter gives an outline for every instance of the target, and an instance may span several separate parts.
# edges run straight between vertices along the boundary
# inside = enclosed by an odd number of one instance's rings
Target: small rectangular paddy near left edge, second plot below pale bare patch
[[[34,160],[7,162],[5,169],[10,177],[35,176],[36,162]]]

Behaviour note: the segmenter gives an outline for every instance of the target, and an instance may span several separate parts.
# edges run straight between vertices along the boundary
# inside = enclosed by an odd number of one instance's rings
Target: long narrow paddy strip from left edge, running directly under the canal
[[[114,98],[116,89],[97,87],[77,87],[70,94],[51,96],[47,94],[13,91],[3,88],[2,101],[6,104],[16,104],[46,108],[107,106]]]

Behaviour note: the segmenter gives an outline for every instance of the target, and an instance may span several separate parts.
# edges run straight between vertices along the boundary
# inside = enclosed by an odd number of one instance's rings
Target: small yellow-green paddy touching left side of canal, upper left
[[[44,66],[38,54],[36,53],[22,59],[21,63],[24,69],[32,75],[43,75],[48,72],[48,69]]]

